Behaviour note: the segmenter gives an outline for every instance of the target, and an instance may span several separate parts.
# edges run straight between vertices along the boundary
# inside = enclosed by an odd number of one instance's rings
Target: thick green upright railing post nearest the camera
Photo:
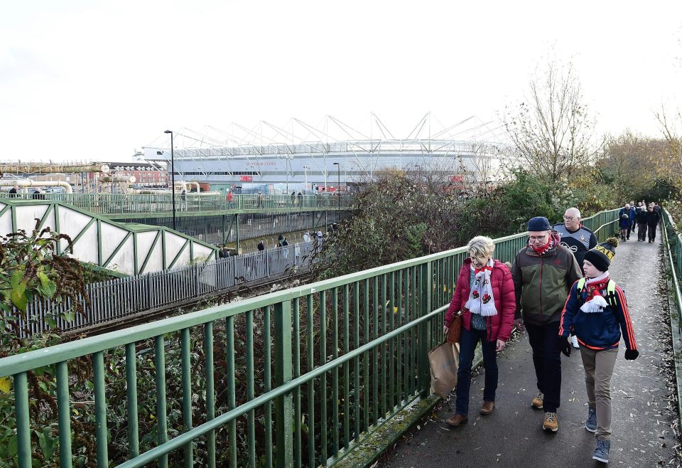
[[[275,304],[275,383],[291,381],[291,301]],[[293,466],[293,398],[286,393],[275,400],[275,445],[278,468]]]

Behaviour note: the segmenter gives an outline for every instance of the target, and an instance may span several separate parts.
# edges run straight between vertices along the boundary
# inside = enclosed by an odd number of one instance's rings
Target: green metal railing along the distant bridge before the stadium
[[[10,194],[1,192],[0,197]],[[171,213],[173,196],[170,193],[21,193],[16,198],[56,200],[72,206],[102,214]],[[224,195],[175,194],[175,211],[182,213],[205,211],[303,211],[322,209],[348,209],[352,196],[323,195],[263,195],[257,193],[234,195],[227,201]]]

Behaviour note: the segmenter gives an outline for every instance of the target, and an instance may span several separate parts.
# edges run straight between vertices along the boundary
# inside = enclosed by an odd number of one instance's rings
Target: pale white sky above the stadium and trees
[[[0,0],[0,160],[129,161],[232,122],[497,126],[547,58],[599,132],[682,107],[682,1]]]

